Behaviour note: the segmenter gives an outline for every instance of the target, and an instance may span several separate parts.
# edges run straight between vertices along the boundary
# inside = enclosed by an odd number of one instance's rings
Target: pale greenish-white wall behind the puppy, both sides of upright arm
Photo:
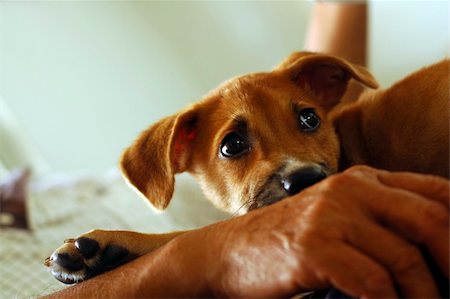
[[[54,170],[102,171],[147,125],[301,49],[310,6],[0,2],[0,95]],[[384,85],[448,53],[447,1],[371,6]]]

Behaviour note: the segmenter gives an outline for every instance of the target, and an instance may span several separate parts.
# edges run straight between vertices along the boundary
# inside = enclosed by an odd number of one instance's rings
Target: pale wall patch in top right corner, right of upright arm
[[[371,2],[372,72],[384,86],[448,57],[449,1]]]

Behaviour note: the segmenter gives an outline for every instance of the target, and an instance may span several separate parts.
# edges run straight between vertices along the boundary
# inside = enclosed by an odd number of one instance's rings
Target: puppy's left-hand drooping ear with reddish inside
[[[159,210],[172,198],[175,174],[189,165],[196,122],[194,109],[166,117],[141,133],[122,155],[125,179]]]

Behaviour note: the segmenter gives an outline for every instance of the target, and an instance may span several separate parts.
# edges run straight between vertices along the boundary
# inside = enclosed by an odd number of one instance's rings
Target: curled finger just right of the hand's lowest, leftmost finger
[[[437,298],[439,292],[417,246],[372,222],[358,221],[349,242],[389,269],[405,298]]]

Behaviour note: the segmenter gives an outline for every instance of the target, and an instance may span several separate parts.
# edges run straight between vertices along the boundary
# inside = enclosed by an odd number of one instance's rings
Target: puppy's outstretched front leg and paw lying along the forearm
[[[182,233],[92,230],[65,240],[44,264],[59,281],[78,283],[144,255]]]

